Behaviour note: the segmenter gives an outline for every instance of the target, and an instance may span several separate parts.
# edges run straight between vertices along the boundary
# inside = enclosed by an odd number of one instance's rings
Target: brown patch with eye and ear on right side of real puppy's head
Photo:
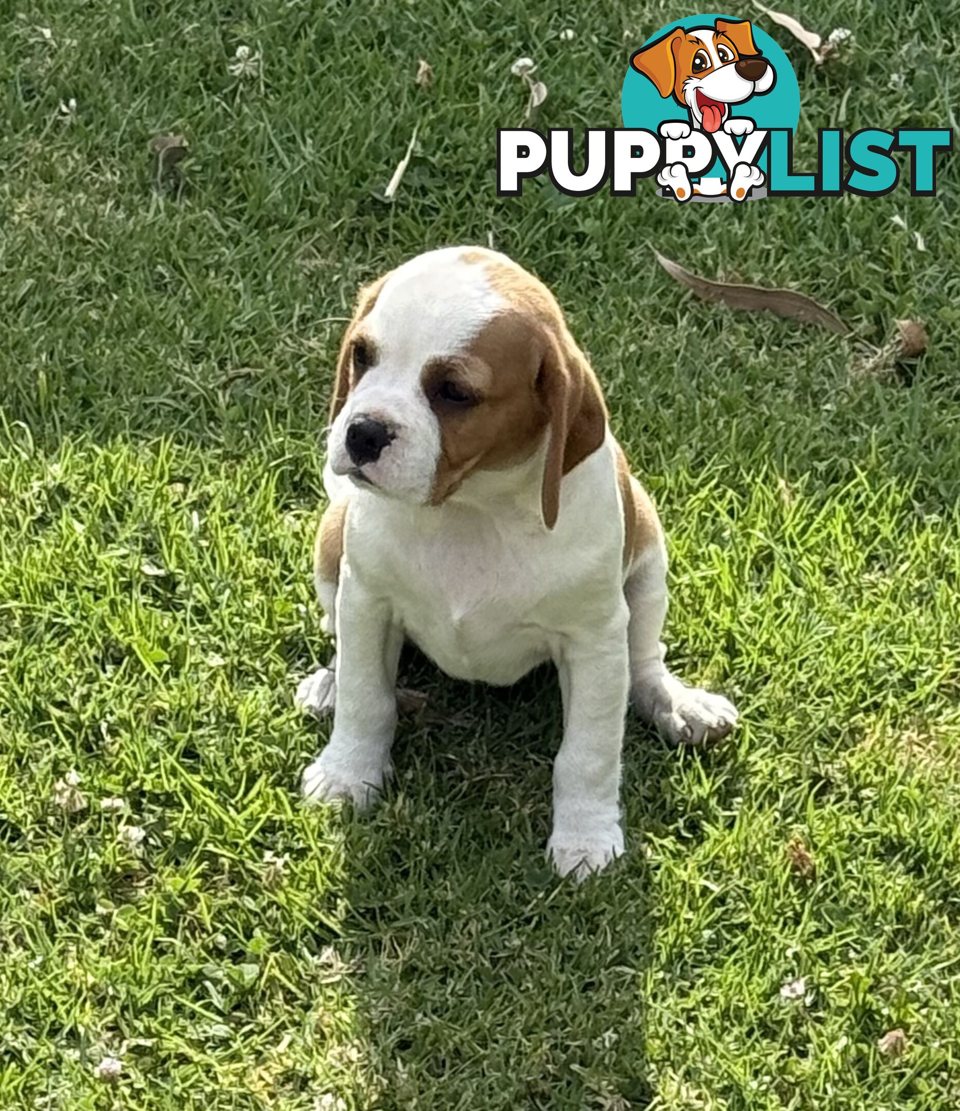
[[[462,258],[483,266],[510,309],[457,357],[424,368],[424,391],[441,433],[432,501],[442,502],[473,471],[529,459],[546,430],[541,508],[544,523],[553,528],[560,480],[603,442],[607,410],[600,386],[542,282],[492,251],[477,248]],[[449,382],[452,391],[444,389]],[[466,403],[457,399],[461,392]]]

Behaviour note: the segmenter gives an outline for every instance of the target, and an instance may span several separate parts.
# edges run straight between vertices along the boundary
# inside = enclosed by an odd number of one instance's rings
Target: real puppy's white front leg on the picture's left
[[[344,563],[337,593],[337,704],[330,742],[303,772],[310,801],[372,802],[390,775],[403,634],[389,604]]]

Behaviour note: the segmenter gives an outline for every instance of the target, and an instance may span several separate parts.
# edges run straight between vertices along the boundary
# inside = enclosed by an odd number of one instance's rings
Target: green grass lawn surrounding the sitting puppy
[[[630,49],[686,9],[18,8],[0,33],[0,1107],[956,1107],[956,160],[936,200],[678,209],[537,182],[498,200],[493,130],[526,102],[511,62],[540,64],[541,126],[613,126]],[[856,34],[814,68],[760,19],[798,71],[798,162],[818,127],[956,124],[957,0],[789,10]],[[259,79],[228,72],[240,44]],[[160,132],[190,140],[180,190],[152,181]],[[359,281],[458,241],[492,241],[567,307],[668,530],[671,659],[742,712],[702,753],[630,723],[630,851],[581,887],[542,858],[549,673],[490,691],[413,659],[431,714],[401,725],[379,812],[296,793],[329,728],[291,693],[329,651],[310,546],[341,321]],[[691,300],[654,247],[801,289],[876,344],[922,318],[930,349],[858,374],[854,343]],[[76,811],[54,787],[71,770]],[[114,797],[124,812],[101,809]],[[781,998],[801,977],[806,999]],[[907,1051],[886,1057],[897,1028]]]

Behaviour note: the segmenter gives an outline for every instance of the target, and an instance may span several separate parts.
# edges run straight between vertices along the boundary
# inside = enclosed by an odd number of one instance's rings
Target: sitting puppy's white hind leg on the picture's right
[[[660,633],[667,617],[667,549],[662,538],[634,559],[623,585],[630,609],[630,701],[644,721],[674,743],[720,740],[737,724],[722,694],[687,687],[663,662]]]

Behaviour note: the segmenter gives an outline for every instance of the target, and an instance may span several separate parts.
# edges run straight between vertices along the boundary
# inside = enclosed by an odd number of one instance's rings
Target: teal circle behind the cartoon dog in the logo
[[[672,31],[677,27],[684,29],[690,27],[712,27],[718,19],[729,19],[737,21],[738,16],[724,16],[722,12],[714,12],[706,16],[688,16],[686,19],[673,20],[666,23],[647,39],[642,46],[656,42],[657,39]],[[777,81],[768,93],[759,97],[751,97],[742,104],[731,104],[731,116],[749,116],[757,123],[758,128],[790,128],[797,130],[800,121],[800,86],[797,83],[797,74],[787,54],[777,46],[770,36],[752,23],[753,41],[764,58],[767,58],[777,71]],[[636,49],[640,49],[637,47]],[[633,51],[631,51],[632,53]],[[657,91],[656,86],[649,79],[638,73],[630,66],[627,77],[623,78],[623,91],[620,96],[620,110],[623,116],[624,128],[646,128],[648,131],[657,131],[666,120],[689,120],[690,113],[686,108],[668,97],[666,100]],[[767,154],[760,159],[761,169],[767,169]],[[702,177],[726,178],[723,164],[719,161]]]

